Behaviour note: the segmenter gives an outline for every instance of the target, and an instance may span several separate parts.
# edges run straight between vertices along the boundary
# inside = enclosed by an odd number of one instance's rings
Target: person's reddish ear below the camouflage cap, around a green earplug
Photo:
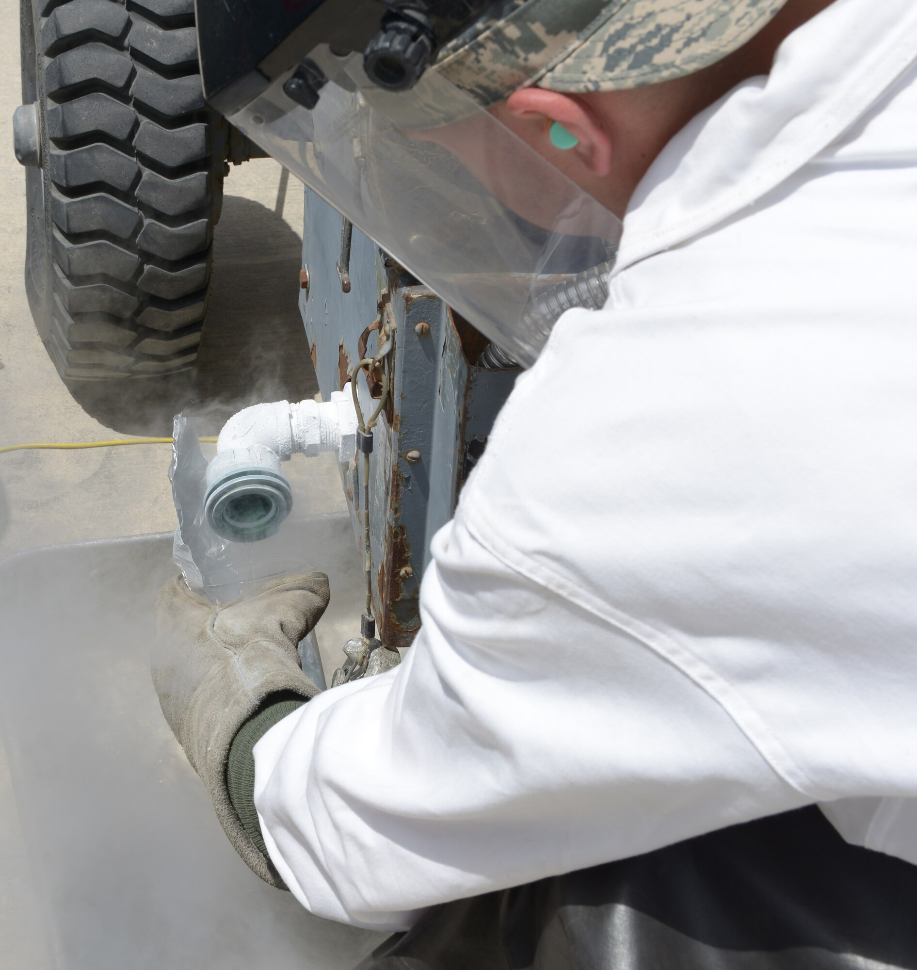
[[[612,171],[612,138],[599,118],[576,96],[540,87],[523,87],[514,91],[506,101],[506,109],[517,117],[541,126],[545,147],[542,154],[570,150],[576,152],[594,176],[604,177]],[[577,145],[571,149],[558,148],[550,137],[553,121],[562,125]]]

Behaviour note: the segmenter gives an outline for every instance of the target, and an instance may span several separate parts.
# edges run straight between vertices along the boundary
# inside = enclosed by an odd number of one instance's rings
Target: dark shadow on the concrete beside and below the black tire
[[[174,414],[215,435],[240,407],[301,401],[318,391],[298,305],[299,236],[261,203],[226,196],[214,233],[213,275],[195,371],[166,378],[76,381],[87,414],[121,435],[171,436]]]

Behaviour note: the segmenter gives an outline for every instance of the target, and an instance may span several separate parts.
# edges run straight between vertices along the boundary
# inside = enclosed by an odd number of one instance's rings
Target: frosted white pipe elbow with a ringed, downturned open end
[[[341,463],[357,452],[357,412],[349,386],[331,401],[253,404],[234,414],[206,469],[207,522],[223,538],[251,542],[275,533],[293,507],[280,463],[301,452],[333,452]]]

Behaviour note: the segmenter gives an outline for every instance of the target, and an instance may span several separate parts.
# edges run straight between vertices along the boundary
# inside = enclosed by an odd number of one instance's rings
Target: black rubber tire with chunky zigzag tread
[[[223,198],[223,123],[206,107],[194,0],[20,0],[26,290],[68,380],[192,367]]]

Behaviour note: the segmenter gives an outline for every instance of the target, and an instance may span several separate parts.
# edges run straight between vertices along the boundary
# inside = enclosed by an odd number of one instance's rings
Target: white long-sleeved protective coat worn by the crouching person
[[[405,662],[255,748],[313,913],[812,802],[917,862],[914,0],[837,0],[664,149],[432,550]]]

